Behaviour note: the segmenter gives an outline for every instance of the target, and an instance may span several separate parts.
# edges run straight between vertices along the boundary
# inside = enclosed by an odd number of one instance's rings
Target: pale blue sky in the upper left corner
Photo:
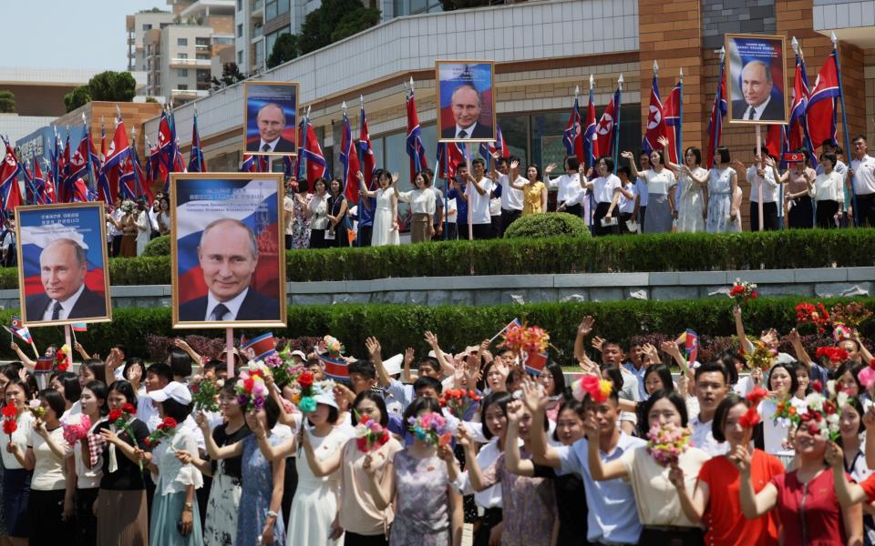
[[[3,66],[126,70],[125,15],[166,0],[23,0],[4,2]]]

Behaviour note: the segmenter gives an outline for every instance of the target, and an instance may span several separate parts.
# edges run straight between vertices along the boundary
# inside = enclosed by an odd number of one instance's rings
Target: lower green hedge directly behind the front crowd
[[[875,298],[853,298],[875,310]],[[795,306],[805,298],[759,298],[745,306],[748,332],[774,327],[782,333],[796,326]],[[827,307],[849,298],[821,299]],[[288,328],[273,329],[282,338],[321,337],[327,333],[341,339],[350,354],[365,354],[365,338],[376,335],[386,354],[401,352],[407,347],[427,349],[422,332],[430,329],[438,334],[445,350],[460,350],[478,339],[487,339],[515,317],[540,325],[551,333],[551,342],[558,351],[552,356],[561,363],[571,361],[574,335],[581,319],[592,315],[596,319],[595,333],[612,339],[629,339],[653,332],[679,334],[695,329],[701,336],[731,336],[735,334],[732,316],[733,300],[707,298],[676,301],[627,300],[606,303],[550,303],[495,307],[417,307],[392,305],[300,306],[288,308]],[[15,311],[0,311],[0,323],[8,324]],[[170,308],[117,308],[111,324],[95,324],[87,333],[77,336],[91,351],[102,355],[114,343],[125,343],[132,355],[146,355],[148,336],[185,336],[201,334],[221,337],[219,330],[173,330],[170,328]],[[37,347],[57,343],[63,337],[60,328],[35,328],[32,334]],[[257,330],[247,330],[256,333]],[[875,319],[864,323],[863,337],[875,336]],[[240,332],[237,332],[239,336]],[[3,358],[11,351],[4,345]]]

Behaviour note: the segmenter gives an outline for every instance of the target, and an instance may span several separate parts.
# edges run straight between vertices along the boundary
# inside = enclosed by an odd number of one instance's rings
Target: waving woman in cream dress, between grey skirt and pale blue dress
[[[660,136],[659,143],[668,147],[668,138]],[[688,147],[684,152],[684,165],[676,165],[671,161],[666,167],[674,171],[677,177],[677,190],[681,192],[678,198],[677,231],[678,233],[705,232],[705,211],[708,208],[708,171],[701,167],[702,151],[697,147]]]

